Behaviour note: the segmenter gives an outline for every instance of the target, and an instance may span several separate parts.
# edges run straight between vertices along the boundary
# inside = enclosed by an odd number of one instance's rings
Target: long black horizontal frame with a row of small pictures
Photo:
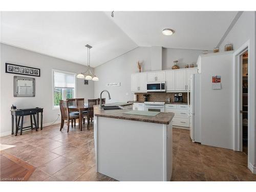
[[[40,77],[40,69],[5,63],[5,72]]]

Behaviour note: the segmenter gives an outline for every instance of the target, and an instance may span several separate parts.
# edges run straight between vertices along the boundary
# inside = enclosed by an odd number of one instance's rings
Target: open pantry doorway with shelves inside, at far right
[[[240,67],[241,149],[248,155],[248,50],[240,55]]]

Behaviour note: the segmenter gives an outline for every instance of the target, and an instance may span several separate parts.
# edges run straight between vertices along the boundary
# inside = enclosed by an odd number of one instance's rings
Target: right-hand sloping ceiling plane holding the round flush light
[[[237,12],[228,11],[124,11],[112,20],[138,46],[212,50],[218,45]],[[106,15],[111,17],[109,12]],[[162,34],[170,28],[171,36]]]

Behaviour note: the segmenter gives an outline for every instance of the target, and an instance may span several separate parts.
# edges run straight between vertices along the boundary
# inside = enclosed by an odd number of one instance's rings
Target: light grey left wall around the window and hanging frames
[[[15,74],[5,73],[6,62],[41,70],[41,76],[34,77],[36,79],[35,97],[13,97],[13,76]],[[12,104],[16,104],[17,108],[36,106],[44,108],[44,124],[56,120],[60,111],[52,109],[52,69],[79,73],[86,71],[87,68],[77,63],[1,44],[1,136],[11,132],[10,108]],[[17,74],[17,76],[22,75]],[[83,79],[77,79],[76,96],[85,98],[85,101],[94,98],[93,81],[89,81],[89,85],[86,86],[83,84]],[[26,121],[28,122],[28,117]]]

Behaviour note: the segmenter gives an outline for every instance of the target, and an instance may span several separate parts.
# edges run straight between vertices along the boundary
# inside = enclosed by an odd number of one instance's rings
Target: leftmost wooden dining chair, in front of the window
[[[59,100],[59,108],[61,113],[61,124],[60,124],[60,130],[62,130],[64,121],[67,120],[68,130],[69,132],[69,121],[71,120],[71,126],[73,127],[73,121],[76,122],[76,119],[79,118],[79,115],[75,115],[73,113],[69,112],[69,101],[63,101]]]

